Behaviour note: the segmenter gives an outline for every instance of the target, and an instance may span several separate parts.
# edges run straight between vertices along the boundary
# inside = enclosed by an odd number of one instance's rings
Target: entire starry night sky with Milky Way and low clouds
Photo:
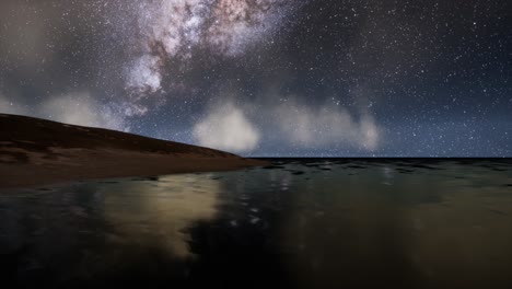
[[[512,157],[512,1],[1,0],[0,112],[251,157]]]

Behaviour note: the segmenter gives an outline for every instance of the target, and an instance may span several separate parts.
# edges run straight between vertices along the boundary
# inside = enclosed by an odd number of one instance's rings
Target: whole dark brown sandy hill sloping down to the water
[[[264,164],[202,147],[0,114],[0,188]]]

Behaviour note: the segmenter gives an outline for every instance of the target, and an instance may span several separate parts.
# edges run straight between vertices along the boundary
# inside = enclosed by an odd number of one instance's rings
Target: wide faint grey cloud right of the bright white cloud
[[[333,106],[312,107],[289,101],[274,109],[283,141],[306,149],[344,146],[373,151],[380,128],[369,113],[354,118],[348,111]]]

